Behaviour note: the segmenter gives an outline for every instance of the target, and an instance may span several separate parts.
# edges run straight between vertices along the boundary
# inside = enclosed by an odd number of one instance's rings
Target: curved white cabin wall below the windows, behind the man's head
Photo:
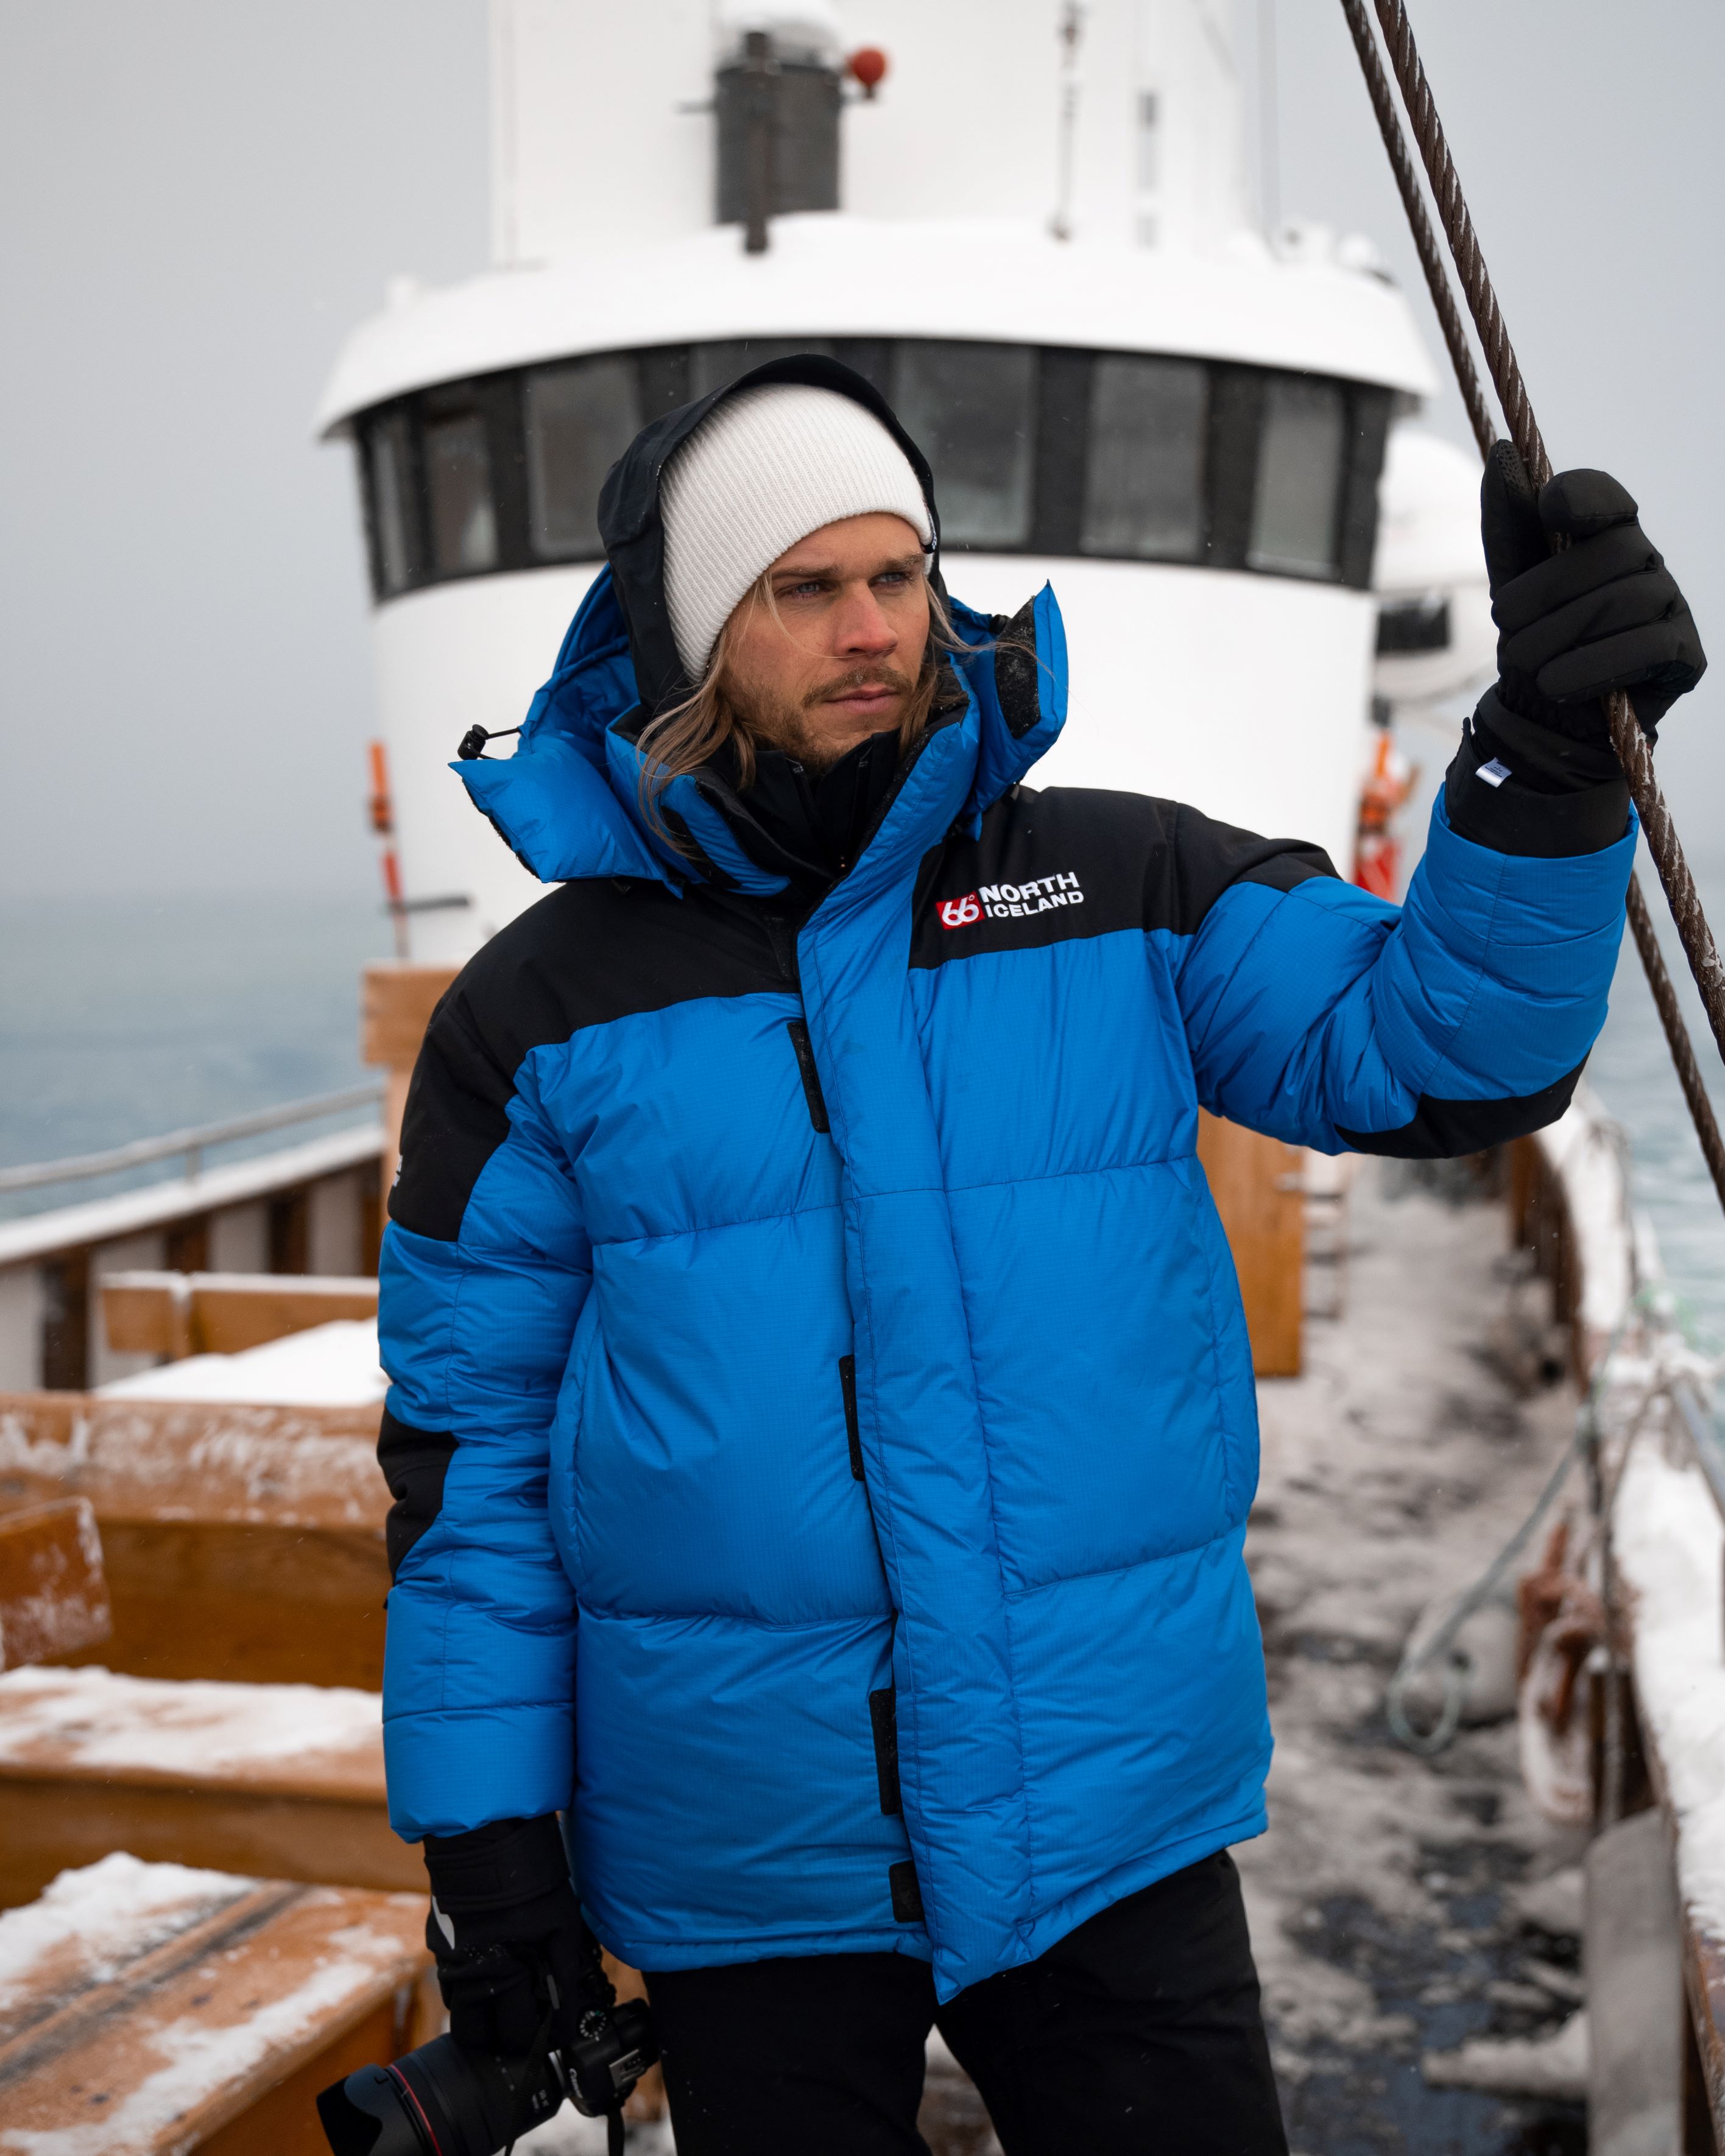
[[[1121,787],[1248,830],[1309,839],[1346,873],[1371,694],[1369,593],[1149,563],[951,554],[970,606],[1016,612],[1054,584],[1072,716],[1031,785]],[[474,724],[513,727],[550,673],[591,569],[537,569],[412,593],[375,623],[380,703],[410,890],[472,906],[410,916],[418,964],[464,964],[546,886],[448,770]],[[498,744],[492,755],[509,752]]]

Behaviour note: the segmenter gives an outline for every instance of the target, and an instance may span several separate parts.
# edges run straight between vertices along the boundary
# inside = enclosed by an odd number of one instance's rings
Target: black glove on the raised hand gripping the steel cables
[[[1535,502],[1509,442],[1492,444],[1479,489],[1499,699],[1570,742],[1611,742],[1604,696],[1630,690],[1652,740],[1708,660],[1665,558],[1609,472],[1559,472]],[[1552,535],[1570,543],[1552,554]]]

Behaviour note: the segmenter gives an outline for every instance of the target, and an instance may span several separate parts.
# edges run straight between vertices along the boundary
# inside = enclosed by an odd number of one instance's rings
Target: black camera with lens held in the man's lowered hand
[[[619,2124],[630,2089],[658,2059],[645,1999],[582,2016],[574,2044],[524,2059],[468,2050],[451,2035],[395,2065],[362,2065],[317,2098],[334,2156],[496,2156],[543,2126],[565,2098]]]

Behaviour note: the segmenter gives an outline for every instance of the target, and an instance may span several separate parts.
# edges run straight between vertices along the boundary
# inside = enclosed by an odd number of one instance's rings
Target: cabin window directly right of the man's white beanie
[[[1031,539],[1035,358],[1029,345],[899,345],[893,407],[934,468],[947,545]]]

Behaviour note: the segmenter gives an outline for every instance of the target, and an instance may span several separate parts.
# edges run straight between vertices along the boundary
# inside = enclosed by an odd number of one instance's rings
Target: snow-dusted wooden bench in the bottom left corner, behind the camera
[[[323,2156],[313,2098],[438,2029],[420,1895],[106,1856],[0,1915],[0,2147]]]

